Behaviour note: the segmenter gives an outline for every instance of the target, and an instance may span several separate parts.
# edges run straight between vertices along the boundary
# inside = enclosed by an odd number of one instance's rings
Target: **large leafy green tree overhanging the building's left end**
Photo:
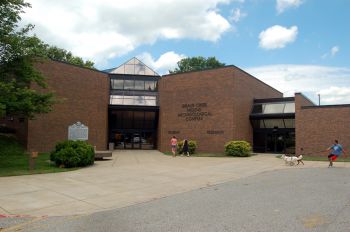
[[[20,13],[26,7],[30,4],[24,0],[0,2],[0,117],[31,119],[38,113],[51,111],[55,99],[53,93],[43,91],[47,85],[45,77],[35,69],[36,62],[52,58],[93,67],[91,61],[84,62],[64,49],[49,46],[35,35],[29,36],[33,25],[18,28]]]

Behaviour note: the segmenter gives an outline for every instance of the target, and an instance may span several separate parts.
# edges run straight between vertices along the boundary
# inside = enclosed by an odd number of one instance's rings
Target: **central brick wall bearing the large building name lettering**
[[[223,152],[224,144],[230,140],[251,142],[249,113],[254,96],[281,97],[281,93],[242,70],[228,66],[165,76],[159,83],[159,96],[160,151],[170,151],[170,138],[175,135],[179,140],[196,140],[198,151]],[[206,106],[197,107],[204,103]],[[203,116],[202,120],[179,117],[192,110],[210,115]]]

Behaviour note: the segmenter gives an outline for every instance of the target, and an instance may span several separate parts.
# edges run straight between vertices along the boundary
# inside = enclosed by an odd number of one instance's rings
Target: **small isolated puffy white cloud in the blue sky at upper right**
[[[295,41],[298,35],[298,27],[292,26],[289,29],[274,25],[260,32],[259,46],[264,49],[284,48],[287,44]]]

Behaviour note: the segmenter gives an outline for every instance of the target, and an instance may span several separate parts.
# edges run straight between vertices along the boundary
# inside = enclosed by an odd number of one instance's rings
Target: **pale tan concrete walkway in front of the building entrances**
[[[305,161],[304,161],[305,162]],[[350,167],[349,163],[336,163]],[[115,151],[110,160],[72,172],[0,177],[0,215],[60,216],[125,207],[290,167],[273,155],[176,157],[158,151]]]

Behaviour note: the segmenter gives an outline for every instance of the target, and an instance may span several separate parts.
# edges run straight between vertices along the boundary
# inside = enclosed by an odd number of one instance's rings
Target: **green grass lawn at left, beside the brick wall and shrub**
[[[35,158],[35,169],[29,170],[29,155],[11,137],[0,135],[0,177],[39,173],[65,172],[78,168],[58,168],[50,163],[50,154],[39,153]]]

